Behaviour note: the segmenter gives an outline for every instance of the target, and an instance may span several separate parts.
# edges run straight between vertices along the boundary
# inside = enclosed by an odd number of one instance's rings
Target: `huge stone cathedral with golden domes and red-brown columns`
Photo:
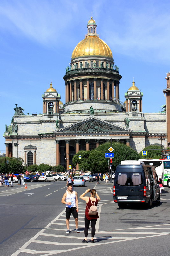
[[[158,143],[160,136],[166,144],[166,113],[142,111],[145,95],[134,80],[125,101],[120,101],[121,78],[112,51],[100,39],[91,17],[87,34],[73,50],[63,77],[65,104],[52,82],[42,95],[42,114],[25,115],[16,104],[3,134],[6,156],[22,157],[25,166],[61,164],[68,170],[78,151],[94,149],[111,139],[138,153]]]

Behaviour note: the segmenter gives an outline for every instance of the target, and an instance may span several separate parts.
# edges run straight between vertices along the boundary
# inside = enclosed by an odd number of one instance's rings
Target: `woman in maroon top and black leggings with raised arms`
[[[88,192],[90,192],[90,197],[85,196],[85,194],[87,194]],[[95,196],[97,197],[95,199]],[[96,193],[95,189],[87,189],[81,196],[80,198],[84,201],[86,201],[86,208],[85,208],[85,229],[84,229],[84,233],[85,233],[85,239],[82,241],[82,243],[87,243],[87,236],[88,236],[88,229],[89,229],[89,225],[90,225],[90,221],[91,221],[91,243],[94,243],[94,235],[96,232],[96,221],[97,219],[99,219],[98,213],[96,212],[95,215],[89,215],[89,209],[90,207],[93,206],[97,206],[98,202],[100,202],[100,197],[98,196],[98,194]],[[95,199],[95,200],[94,200]]]

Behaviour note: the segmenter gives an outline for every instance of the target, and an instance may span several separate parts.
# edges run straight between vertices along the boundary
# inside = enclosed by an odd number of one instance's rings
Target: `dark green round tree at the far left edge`
[[[9,161],[7,164],[6,161]],[[22,166],[23,159],[18,157],[1,157],[0,158],[0,172],[1,173],[22,173],[25,168]]]

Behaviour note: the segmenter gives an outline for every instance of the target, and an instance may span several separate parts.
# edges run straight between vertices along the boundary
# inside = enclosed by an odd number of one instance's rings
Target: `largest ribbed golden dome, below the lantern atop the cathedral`
[[[88,36],[75,47],[72,59],[79,56],[99,55],[113,58],[109,46],[97,36]]]

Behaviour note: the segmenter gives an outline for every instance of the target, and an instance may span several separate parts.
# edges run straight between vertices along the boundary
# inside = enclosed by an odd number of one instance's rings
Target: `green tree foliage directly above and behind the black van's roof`
[[[147,150],[147,156],[142,156],[142,151],[143,150]],[[155,158],[155,159],[161,159],[162,156],[162,149],[161,149],[161,145],[150,145],[144,149],[142,149],[142,151],[139,153],[139,159],[140,158]]]

